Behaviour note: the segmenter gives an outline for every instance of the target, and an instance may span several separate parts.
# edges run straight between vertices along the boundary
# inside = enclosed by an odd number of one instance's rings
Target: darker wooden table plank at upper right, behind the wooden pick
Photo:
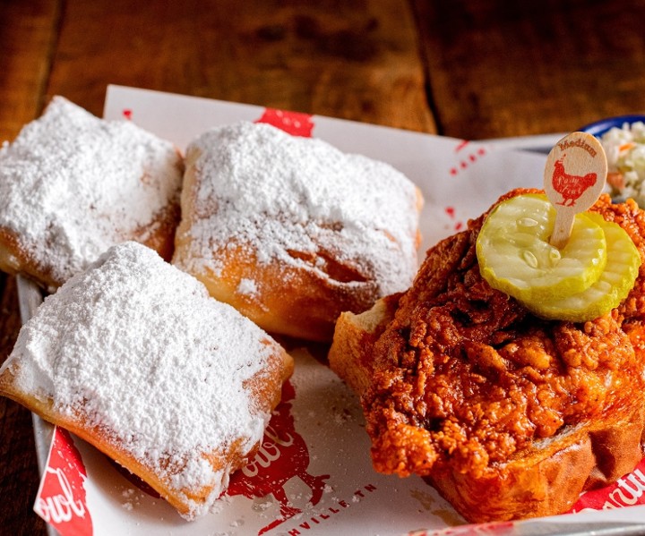
[[[645,112],[645,2],[413,0],[440,133],[571,132]]]

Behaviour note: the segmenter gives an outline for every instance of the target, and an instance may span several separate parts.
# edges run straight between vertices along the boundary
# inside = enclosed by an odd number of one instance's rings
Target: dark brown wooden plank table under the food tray
[[[1,0],[0,141],[108,83],[464,139],[645,112],[644,0]],[[0,277],[0,362],[20,319]],[[30,413],[0,400],[0,533],[42,534]]]

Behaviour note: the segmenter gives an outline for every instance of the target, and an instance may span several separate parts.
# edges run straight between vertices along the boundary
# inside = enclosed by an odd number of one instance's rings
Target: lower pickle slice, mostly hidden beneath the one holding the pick
[[[641,266],[636,246],[615,223],[607,222],[599,214],[588,215],[605,232],[607,243],[606,267],[593,285],[580,294],[556,298],[547,302],[527,302],[523,305],[545,319],[584,322],[597,319],[617,307],[632,290]]]

